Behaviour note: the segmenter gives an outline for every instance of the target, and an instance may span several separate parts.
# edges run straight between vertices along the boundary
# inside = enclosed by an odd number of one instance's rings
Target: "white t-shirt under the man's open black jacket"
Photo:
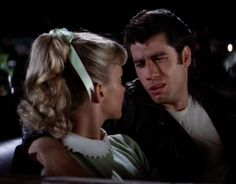
[[[182,111],[169,112],[197,143],[206,159],[203,182],[224,181],[228,168],[219,134],[203,107],[191,96]]]

